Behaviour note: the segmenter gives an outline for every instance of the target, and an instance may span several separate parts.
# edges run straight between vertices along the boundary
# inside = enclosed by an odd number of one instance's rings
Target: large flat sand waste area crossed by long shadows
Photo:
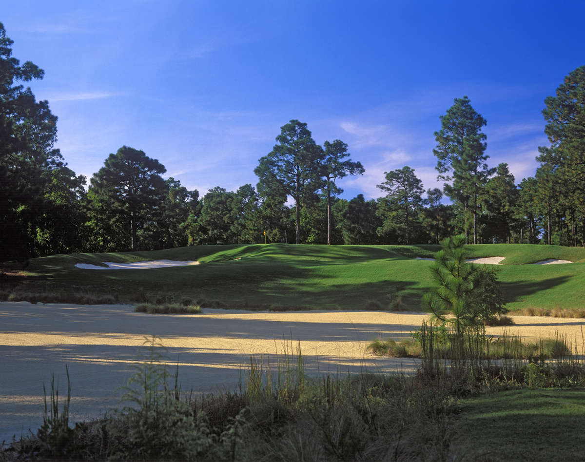
[[[401,339],[421,325],[421,313],[363,311],[243,312],[207,309],[201,315],[147,315],[128,305],[0,303],[0,442],[36,431],[42,423],[43,382],[51,373],[66,394],[71,376],[73,421],[103,415],[119,406],[118,389],[132,376],[144,337],[156,335],[167,347],[183,390],[234,390],[246,380],[250,354],[257,358],[300,341],[309,374],[412,373],[418,360],[383,358],[364,352],[379,337]],[[583,348],[583,320],[514,316],[507,331],[523,339],[566,334]],[[502,327],[488,333],[500,335]]]

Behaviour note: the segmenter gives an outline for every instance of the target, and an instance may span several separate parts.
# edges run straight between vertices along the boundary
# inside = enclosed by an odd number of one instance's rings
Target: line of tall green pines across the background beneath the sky
[[[0,257],[154,250],[197,244],[585,243],[585,66],[567,75],[543,115],[550,146],[516,184],[505,163],[489,167],[486,120],[469,98],[440,116],[433,150],[443,191],[424,190],[415,170],[385,172],[381,196],[347,200],[337,184],[364,168],[341,140],[312,138],[290,120],[259,159],[256,187],[200,196],[141,150],[122,146],[90,178],[76,175],[54,144],[57,117],[23,82],[43,78],[12,57],[0,23]],[[87,189],[86,189],[87,187]],[[445,194],[450,204],[443,204]],[[291,198],[294,205],[288,206]]]

